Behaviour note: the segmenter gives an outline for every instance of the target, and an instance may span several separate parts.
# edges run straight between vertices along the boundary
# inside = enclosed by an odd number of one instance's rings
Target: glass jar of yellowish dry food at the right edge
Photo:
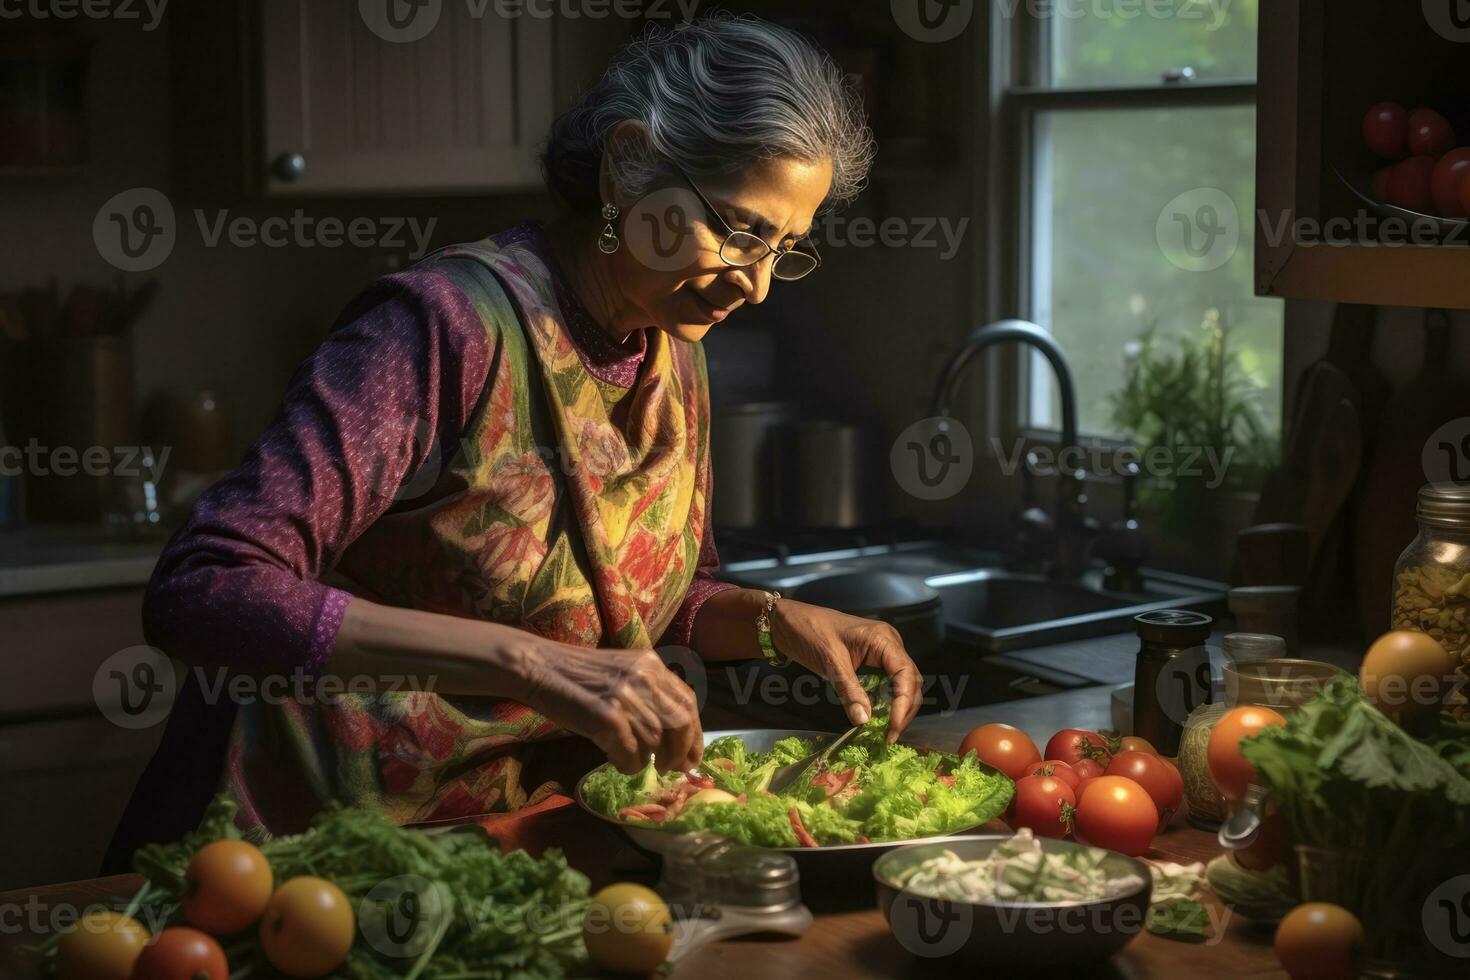
[[[1429,633],[1470,677],[1470,486],[1419,491],[1419,536],[1394,566],[1394,629]]]

